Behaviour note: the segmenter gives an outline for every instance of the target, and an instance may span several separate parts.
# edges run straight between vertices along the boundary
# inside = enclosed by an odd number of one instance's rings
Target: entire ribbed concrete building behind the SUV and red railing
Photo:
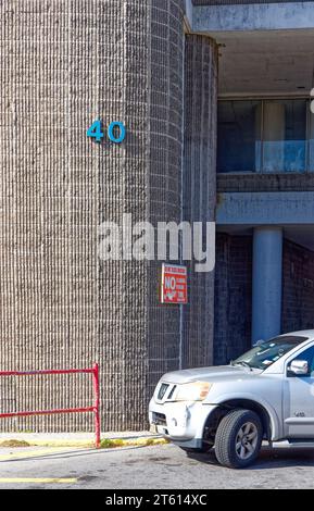
[[[100,363],[103,429],[161,374],[314,326],[314,2],[4,0],[1,370]],[[126,126],[93,144],[98,119]],[[99,225],[216,221],[216,269],[161,306],[159,261],[100,261]],[[0,379],[1,410],[85,406],[81,376]],[[1,429],[84,431],[88,415]]]

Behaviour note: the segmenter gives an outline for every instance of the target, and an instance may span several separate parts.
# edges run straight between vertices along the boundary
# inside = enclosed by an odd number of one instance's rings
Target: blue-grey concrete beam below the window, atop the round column
[[[314,191],[218,194],[217,225],[314,225]]]

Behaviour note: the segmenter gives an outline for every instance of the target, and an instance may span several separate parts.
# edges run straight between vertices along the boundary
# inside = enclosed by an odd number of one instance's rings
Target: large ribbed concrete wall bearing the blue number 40
[[[97,360],[103,428],[141,428],[151,387],[178,364],[179,312],[158,309],[153,264],[98,261],[98,225],[179,217],[183,2],[8,0],[0,13],[1,369]],[[98,117],[125,122],[123,146],[86,138]],[[3,382],[1,410],[83,406],[88,382]]]

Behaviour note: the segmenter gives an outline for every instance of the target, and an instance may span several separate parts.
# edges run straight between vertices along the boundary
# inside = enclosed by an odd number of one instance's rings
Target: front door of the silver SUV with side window
[[[306,375],[297,376],[289,372],[294,360],[307,361]],[[288,360],[282,406],[286,438],[314,438],[314,346]]]

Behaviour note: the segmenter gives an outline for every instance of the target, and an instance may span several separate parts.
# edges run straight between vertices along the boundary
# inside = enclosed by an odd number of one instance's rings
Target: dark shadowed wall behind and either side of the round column
[[[314,328],[314,252],[284,241],[282,333]],[[226,364],[251,346],[252,237],[218,234],[214,363]]]

